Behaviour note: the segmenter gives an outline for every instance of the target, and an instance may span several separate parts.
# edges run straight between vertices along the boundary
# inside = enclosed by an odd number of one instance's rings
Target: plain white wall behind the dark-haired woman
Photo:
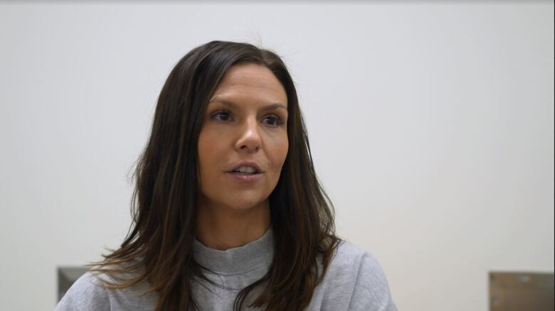
[[[119,245],[171,67],[241,40],[289,65],[338,233],[399,310],[487,310],[488,271],[554,271],[553,25],[552,1],[0,4],[1,308],[51,309],[57,266]]]

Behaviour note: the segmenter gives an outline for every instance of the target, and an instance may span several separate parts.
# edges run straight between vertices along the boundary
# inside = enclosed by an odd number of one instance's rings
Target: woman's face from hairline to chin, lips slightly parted
[[[199,135],[201,204],[236,210],[265,204],[287,148],[282,84],[261,65],[232,66],[208,102]],[[234,172],[240,167],[247,173]]]

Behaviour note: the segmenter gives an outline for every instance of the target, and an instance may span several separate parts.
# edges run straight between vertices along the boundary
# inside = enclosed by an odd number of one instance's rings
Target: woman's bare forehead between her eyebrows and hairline
[[[213,97],[238,102],[287,105],[287,93],[280,80],[267,67],[257,64],[233,65],[223,76]]]

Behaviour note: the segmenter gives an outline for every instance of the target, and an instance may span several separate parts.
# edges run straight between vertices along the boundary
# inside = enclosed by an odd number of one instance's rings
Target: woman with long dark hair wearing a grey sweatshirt
[[[134,224],[56,310],[396,310],[334,234],[297,93],[270,50],[212,41],[160,93]]]

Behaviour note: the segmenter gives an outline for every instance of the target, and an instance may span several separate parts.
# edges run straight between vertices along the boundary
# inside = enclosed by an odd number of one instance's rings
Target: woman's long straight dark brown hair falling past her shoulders
[[[233,65],[268,67],[287,93],[289,150],[280,180],[270,194],[274,256],[268,272],[240,291],[234,310],[302,310],[322,281],[339,241],[334,208],[314,172],[297,91],[285,64],[273,51],[248,43],[211,41],[191,50],[171,70],[159,95],[146,148],[134,170],[133,222],[120,249],[90,263],[91,272],[107,273],[105,288],[121,289],[148,281],[156,292],[156,310],[198,309],[191,295],[193,278],[208,280],[206,268],[194,261],[196,232],[198,139],[208,99]],[[318,262],[319,261],[319,262]],[[321,269],[318,265],[321,265]],[[135,273],[134,278],[117,278]],[[209,281],[209,280],[208,280]],[[249,298],[250,299],[250,298]]]

